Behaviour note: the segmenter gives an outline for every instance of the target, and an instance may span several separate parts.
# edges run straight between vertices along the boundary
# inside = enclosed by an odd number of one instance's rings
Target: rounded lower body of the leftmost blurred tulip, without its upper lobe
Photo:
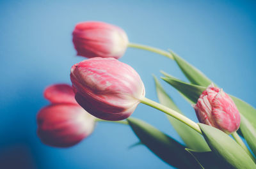
[[[95,117],[79,105],[62,103],[42,108],[37,124],[42,142],[54,147],[70,147],[92,133]]]

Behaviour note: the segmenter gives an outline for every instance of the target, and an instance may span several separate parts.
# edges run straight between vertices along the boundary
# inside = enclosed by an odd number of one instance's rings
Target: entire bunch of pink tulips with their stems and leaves
[[[43,143],[70,147],[90,135],[96,122],[117,122],[131,126],[141,143],[176,168],[256,168],[255,108],[225,93],[172,51],[130,43],[120,27],[81,22],[72,35],[77,55],[88,59],[72,66],[72,86],[54,84],[45,89],[44,96],[51,105],[42,108],[36,117]],[[118,61],[127,47],[155,52],[177,62],[190,83],[164,72],[162,79],[193,105],[200,123],[182,114],[156,77],[160,103],[145,97],[140,75]],[[130,117],[139,103],[167,114],[184,145]]]

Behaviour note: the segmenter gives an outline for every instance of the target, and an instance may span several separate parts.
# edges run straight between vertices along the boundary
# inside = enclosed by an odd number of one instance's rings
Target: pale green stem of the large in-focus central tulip
[[[195,129],[195,131],[197,131],[198,133],[200,133],[202,135],[202,131],[199,128],[198,124],[196,124],[196,122],[194,122],[194,121],[191,121],[188,117],[186,117],[182,114],[179,114],[175,110],[172,110],[171,108],[165,107],[164,105],[161,105],[161,104],[157,103],[156,101],[152,101],[151,99],[142,98],[142,99],[140,99],[140,101],[141,101],[141,103],[143,103],[145,105],[156,108],[157,110],[160,110],[160,111],[164,112],[165,114],[171,115],[175,119],[177,119],[181,122],[184,122],[189,127]]]

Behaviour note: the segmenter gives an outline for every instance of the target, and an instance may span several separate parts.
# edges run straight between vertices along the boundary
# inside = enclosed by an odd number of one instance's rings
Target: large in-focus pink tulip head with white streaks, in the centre
[[[79,62],[72,66],[70,78],[77,103],[108,121],[129,117],[145,96],[140,75],[113,58],[94,57]]]

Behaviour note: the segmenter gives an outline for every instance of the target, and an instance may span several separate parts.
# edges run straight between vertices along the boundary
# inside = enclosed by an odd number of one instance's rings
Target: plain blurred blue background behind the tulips
[[[68,149],[48,147],[36,136],[36,113],[48,104],[42,92],[70,84],[72,64],[82,61],[72,45],[77,22],[101,20],[122,27],[129,40],[170,48],[202,70],[224,91],[256,107],[255,1],[0,1],[1,168],[172,168],[138,142],[129,126],[100,123]],[[130,64],[157,101],[152,73],[164,70],[186,80],[174,61],[128,48]],[[180,109],[193,108],[165,84]],[[138,117],[180,140],[162,112],[139,105]]]

